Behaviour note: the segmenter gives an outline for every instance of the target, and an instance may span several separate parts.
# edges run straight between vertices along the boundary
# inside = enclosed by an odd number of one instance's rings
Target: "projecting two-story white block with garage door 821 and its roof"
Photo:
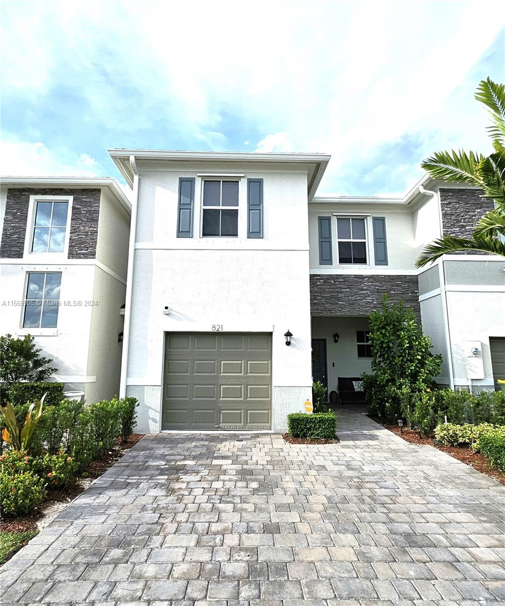
[[[329,156],[110,154],[133,186],[121,393],[139,430],[283,430],[312,399],[307,199]]]

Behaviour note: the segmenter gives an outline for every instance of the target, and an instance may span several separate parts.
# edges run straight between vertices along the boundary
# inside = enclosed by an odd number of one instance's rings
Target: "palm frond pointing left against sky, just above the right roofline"
[[[451,155],[452,154],[452,155]],[[423,161],[421,166],[433,179],[456,183],[470,183],[482,187],[478,164],[484,159],[480,153],[470,151],[436,151],[431,158]]]

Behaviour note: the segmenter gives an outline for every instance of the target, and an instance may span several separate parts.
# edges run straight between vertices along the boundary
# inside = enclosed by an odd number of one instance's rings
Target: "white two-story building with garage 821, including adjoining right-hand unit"
[[[121,393],[142,431],[284,430],[312,379],[333,391],[370,370],[384,293],[422,319],[440,384],[505,374],[505,261],[415,268],[492,207],[477,190],[425,178],[399,198],[323,197],[329,156],[110,154],[133,187]]]

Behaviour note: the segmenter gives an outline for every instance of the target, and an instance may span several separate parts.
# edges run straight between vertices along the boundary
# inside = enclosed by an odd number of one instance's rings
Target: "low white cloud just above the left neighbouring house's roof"
[[[65,162],[62,150],[51,150],[39,141],[21,141],[15,135],[2,136],[0,165],[5,176],[96,177],[102,170],[95,158],[86,153],[74,162]]]

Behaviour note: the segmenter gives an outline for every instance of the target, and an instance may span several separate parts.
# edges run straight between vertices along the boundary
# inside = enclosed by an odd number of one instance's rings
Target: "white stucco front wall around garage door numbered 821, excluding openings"
[[[139,430],[158,431],[166,331],[272,332],[272,424],[284,430],[312,399],[307,175],[241,165],[239,237],[199,238],[202,170],[141,170],[127,394],[141,399]],[[193,238],[176,238],[179,176],[196,177]],[[264,179],[263,239],[247,239],[247,177]]]

